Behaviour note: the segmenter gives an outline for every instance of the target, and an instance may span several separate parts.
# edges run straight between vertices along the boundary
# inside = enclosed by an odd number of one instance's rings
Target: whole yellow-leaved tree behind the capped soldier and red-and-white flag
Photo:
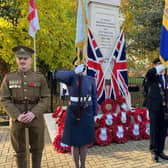
[[[0,15],[0,44],[2,44],[0,57],[11,65],[11,70],[14,70],[16,64],[12,47],[24,44],[33,48],[33,39],[28,35],[29,1],[9,2],[7,9],[12,10],[16,5],[20,12],[17,19],[15,12],[8,13],[8,10],[4,10],[4,14]],[[71,60],[75,55],[76,3],[76,1],[36,0],[40,21],[40,30],[36,34],[37,69],[43,68],[41,63],[49,69],[72,66]]]

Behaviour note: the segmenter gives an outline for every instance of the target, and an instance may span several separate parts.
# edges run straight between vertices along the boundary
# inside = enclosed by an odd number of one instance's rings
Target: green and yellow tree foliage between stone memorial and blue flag
[[[153,58],[159,57],[164,0],[123,0],[121,9],[129,65],[135,69],[144,69],[144,65],[148,68]]]

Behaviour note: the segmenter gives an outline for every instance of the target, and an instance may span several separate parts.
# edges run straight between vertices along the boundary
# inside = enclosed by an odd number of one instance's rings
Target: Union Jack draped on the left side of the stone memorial
[[[105,81],[103,79],[103,70],[101,67],[102,59],[103,59],[103,55],[99,47],[97,46],[97,43],[89,29],[88,30],[88,61],[87,61],[88,70],[87,70],[87,74],[89,76],[96,78],[97,101],[99,104],[101,104],[102,101],[105,100],[105,90],[104,90]]]

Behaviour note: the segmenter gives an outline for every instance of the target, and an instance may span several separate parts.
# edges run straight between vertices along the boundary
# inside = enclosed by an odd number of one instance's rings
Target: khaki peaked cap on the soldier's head
[[[16,57],[24,57],[24,58],[31,57],[32,54],[34,53],[33,49],[23,45],[13,47],[12,51],[15,52]]]

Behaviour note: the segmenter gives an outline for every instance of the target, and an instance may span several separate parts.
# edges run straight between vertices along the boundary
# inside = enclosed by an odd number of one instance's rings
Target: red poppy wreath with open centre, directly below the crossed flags
[[[105,99],[101,104],[101,109],[103,113],[115,113],[117,104],[112,99]]]

